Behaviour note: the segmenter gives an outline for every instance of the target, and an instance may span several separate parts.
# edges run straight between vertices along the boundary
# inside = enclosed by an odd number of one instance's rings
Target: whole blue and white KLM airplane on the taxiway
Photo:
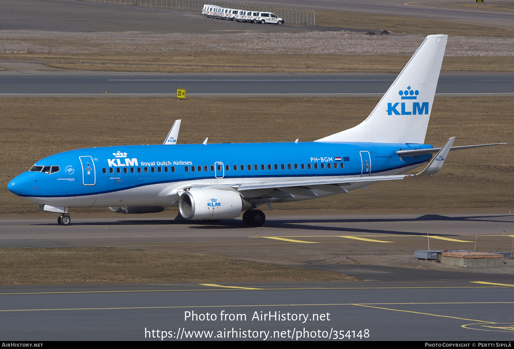
[[[65,151],[36,162],[9,182],[38,209],[109,207],[125,214],[177,206],[186,219],[238,217],[260,226],[256,207],[347,193],[379,181],[437,173],[448,151],[423,144],[447,35],[429,35],[361,124],[315,142],[177,145],[180,121],[163,145]],[[178,124],[177,124],[178,123]],[[169,144],[175,144],[170,147]],[[435,153],[435,156],[433,154]],[[417,175],[400,175],[428,166]]]

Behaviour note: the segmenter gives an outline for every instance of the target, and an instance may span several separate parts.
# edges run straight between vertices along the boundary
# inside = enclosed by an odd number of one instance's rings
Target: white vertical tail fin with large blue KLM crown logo
[[[448,35],[429,35],[366,120],[316,142],[425,142]]]

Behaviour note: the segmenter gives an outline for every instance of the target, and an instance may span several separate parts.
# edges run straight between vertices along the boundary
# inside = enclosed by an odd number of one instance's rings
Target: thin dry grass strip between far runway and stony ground
[[[36,55],[39,60],[66,61],[70,57]],[[182,53],[143,55],[84,55],[69,63],[47,63],[64,69],[144,72],[300,72],[399,73],[410,56],[339,54]],[[158,62],[158,64],[156,63]],[[91,64],[94,63],[94,64]],[[514,71],[512,57],[445,57],[441,70]]]

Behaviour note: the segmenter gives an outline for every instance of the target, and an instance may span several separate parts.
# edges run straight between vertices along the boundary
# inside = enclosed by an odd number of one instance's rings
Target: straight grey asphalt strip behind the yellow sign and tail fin
[[[1,96],[381,96],[396,75],[2,74]],[[407,87],[406,87],[407,88]],[[514,95],[512,74],[440,75],[437,95]]]

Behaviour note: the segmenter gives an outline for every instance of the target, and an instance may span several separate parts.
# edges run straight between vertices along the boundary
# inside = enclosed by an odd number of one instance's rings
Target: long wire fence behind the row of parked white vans
[[[84,1],[84,0],[83,0]],[[316,13],[310,9],[298,9],[282,6],[256,5],[246,3],[234,3],[231,1],[218,0],[87,0],[93,3],[132,5],[141,7],[152,7],[170,9],[175,11],[200,12],[204,5],[219,6],[242,11],[271,12],[283,18],[284,24],[290,25],[316,25]]]

